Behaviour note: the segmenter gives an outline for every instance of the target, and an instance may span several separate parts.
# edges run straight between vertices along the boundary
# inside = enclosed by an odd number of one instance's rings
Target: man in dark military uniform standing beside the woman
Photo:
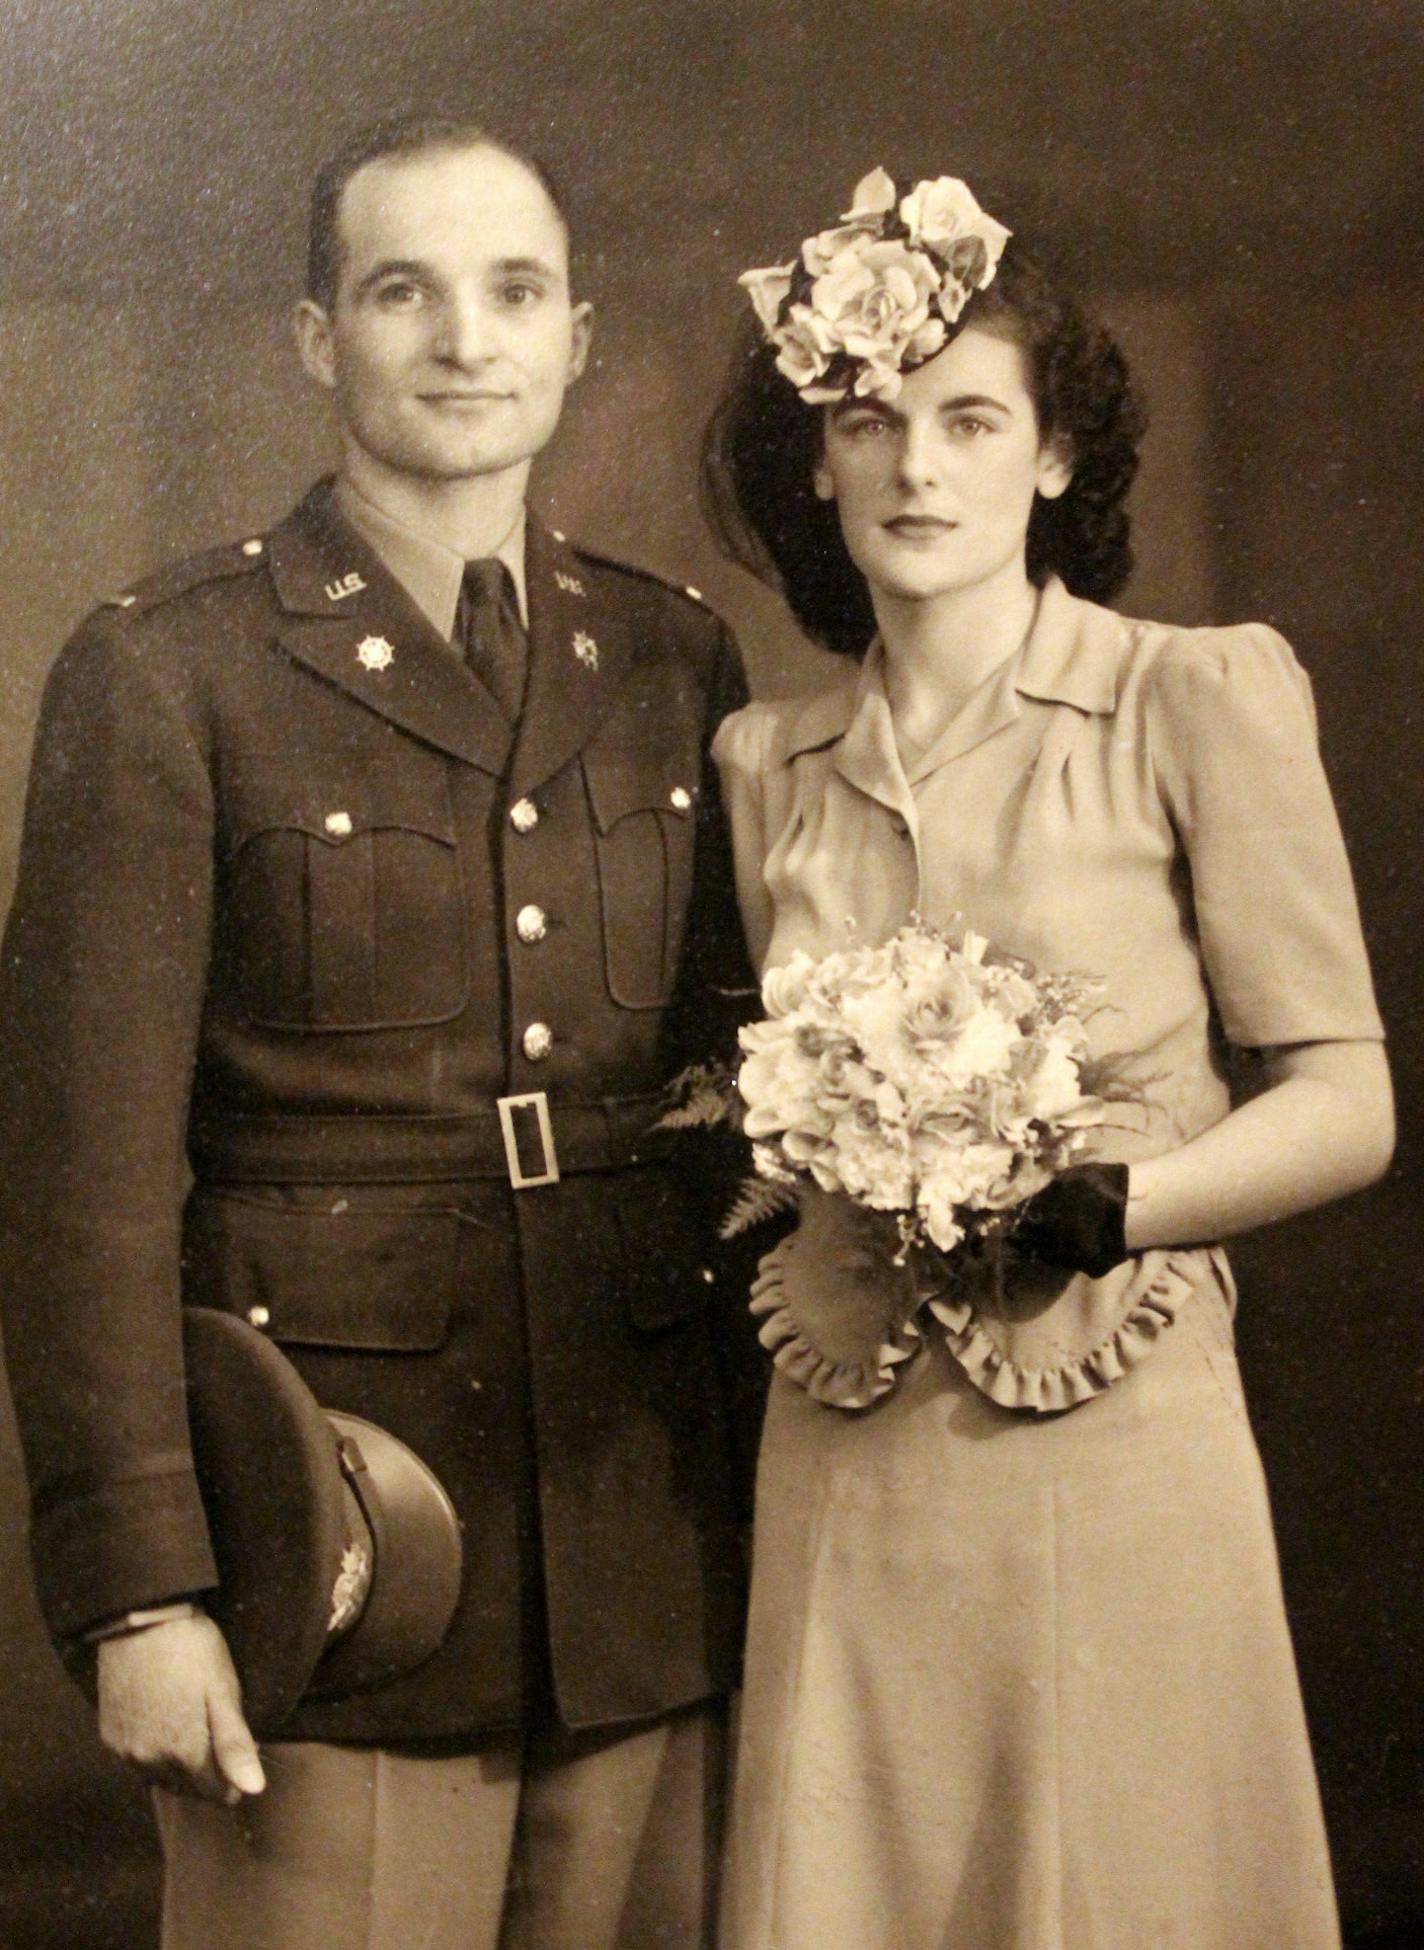
[[[694,1944],[741,1578],[718,1281],[650,1125],[747,983],[708,764],[741,673],[692,593],[525,511],[589,343],[536,164],[351,144],[297,332],[336,480],[113,599],[41,714],[0,1004],[39,1589],[168,1790],[166,1944]],[[179,1303],[464,1529],[441,1650],[261,1755]]]

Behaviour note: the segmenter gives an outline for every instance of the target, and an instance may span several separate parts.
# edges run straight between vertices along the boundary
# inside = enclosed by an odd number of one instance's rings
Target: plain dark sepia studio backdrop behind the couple
[[[538,503],[694,581],[767,692],[817,659],[696,509],[735,273],[874,164],[966,176],[1079,267],[1153,410],[1124,606],[1295,644],[1393,1032],[1389,1184],[1237,1266],[1350,1942],[1424,1940],[1424,0],[0,0],[0,903],[62,636],[328,464],[287,312],[355,125],[474,111],[544,154],[599,345]],[[8,1406],[0,1673],[0,1950],[142,1950],[146,1810],[43,1640]]]

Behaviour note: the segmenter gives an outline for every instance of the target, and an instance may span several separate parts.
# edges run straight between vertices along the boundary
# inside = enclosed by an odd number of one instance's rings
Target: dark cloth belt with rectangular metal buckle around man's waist
[[[568,1172],[665,1158],[659,1096],[550,1104],[542,1090],[464,1117],[226,1115],[189,1137],[193,1172],[222,1184],[419,1184],[503,1178],[517,1190]]]

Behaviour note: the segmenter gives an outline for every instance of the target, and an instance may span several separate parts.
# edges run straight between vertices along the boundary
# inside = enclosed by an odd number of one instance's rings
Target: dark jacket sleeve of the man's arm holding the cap
[[[51,675],[0,969],[0,1305],[57,1636],[217,1583],[183,1400],[213,794],[183,665],[99,612]]]

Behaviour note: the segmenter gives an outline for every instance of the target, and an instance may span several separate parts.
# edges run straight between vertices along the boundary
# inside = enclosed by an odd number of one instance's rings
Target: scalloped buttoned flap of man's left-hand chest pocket
[[[343,846],[361,833],[396,827],[455,844],[445,774],[435,766],[359,760],[314,766],[308,759],[246,760],[224,782],[228,846],[259,833],[306,833]]]

